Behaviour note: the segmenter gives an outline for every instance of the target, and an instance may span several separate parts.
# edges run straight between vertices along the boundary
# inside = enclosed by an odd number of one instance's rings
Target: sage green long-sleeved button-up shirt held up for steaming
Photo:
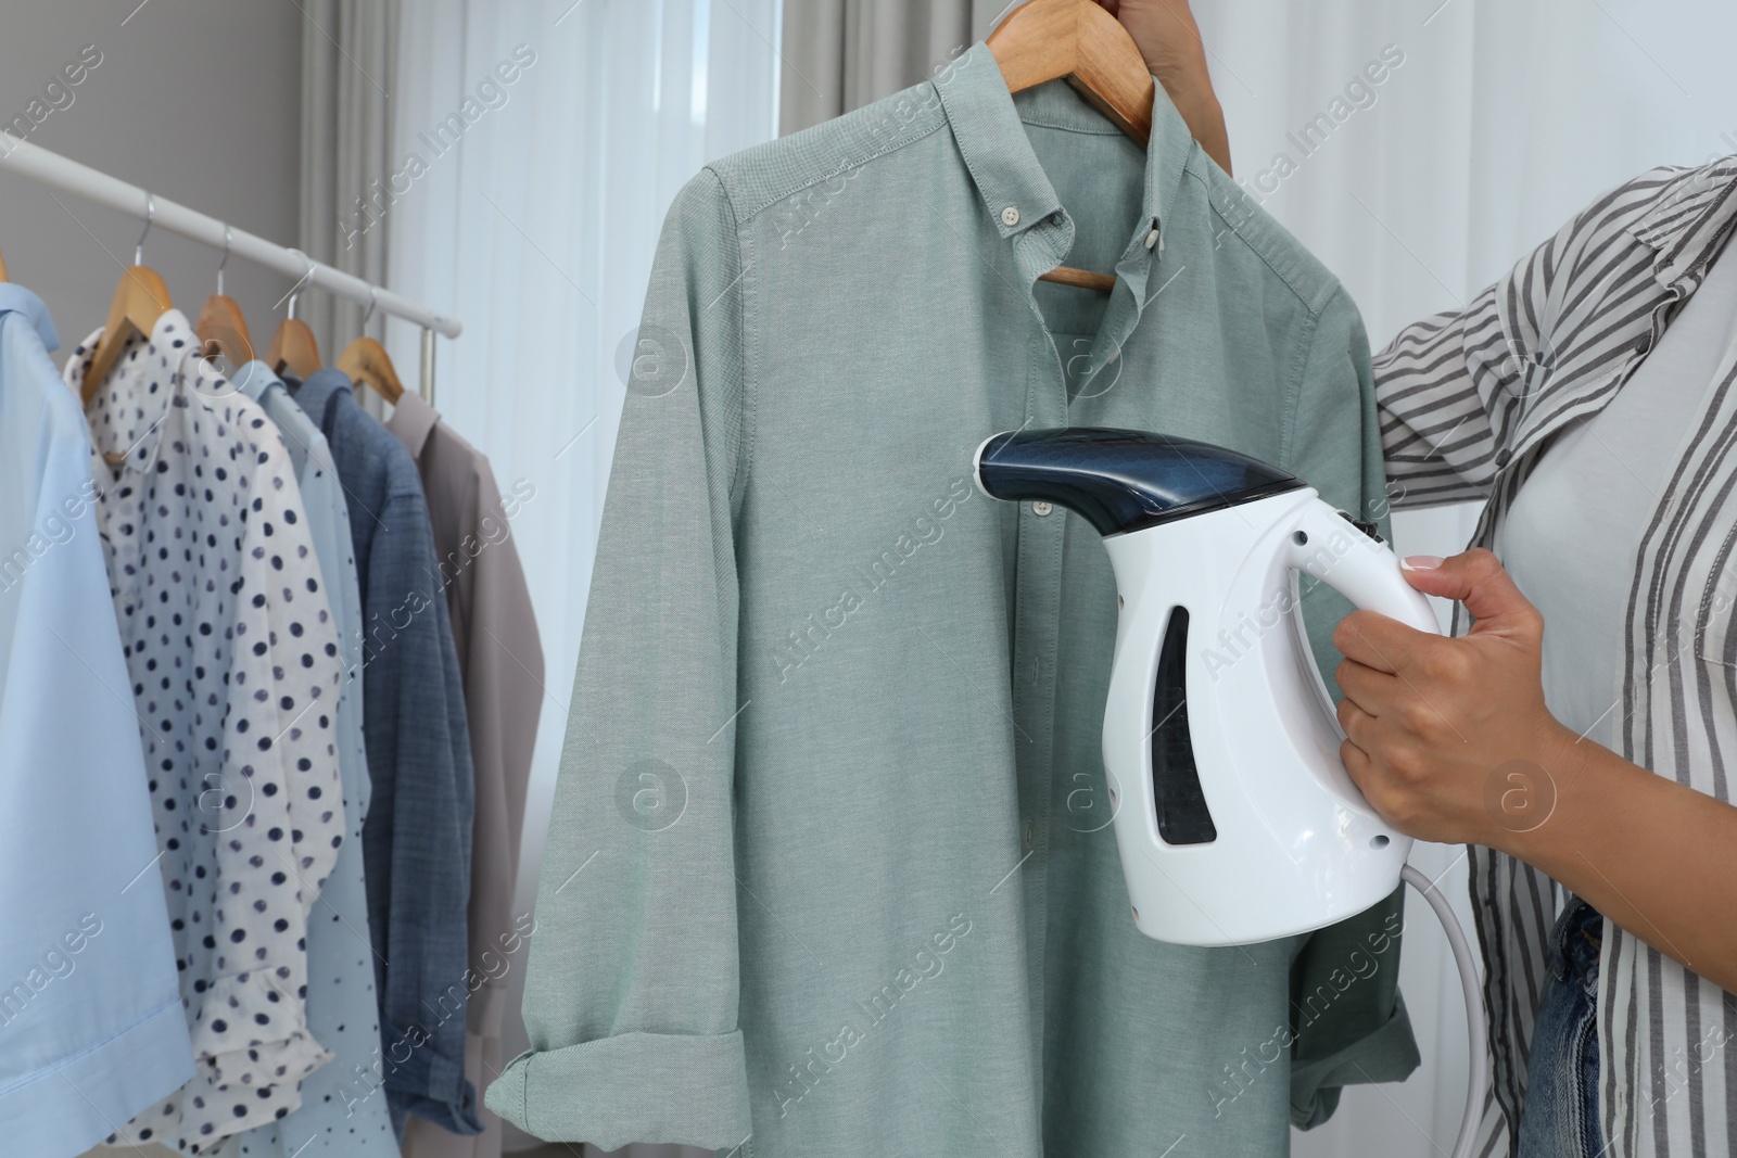
[[[1063,257],[1113,293],[1035,281]],[[1108,557],[971,483],[997,431],[1143,427],[1384,523],[1355,307],[1162,89],[1148,153],[978,43],[709,165],[634,354],[492,1109],[763,1158],[1280,1156],[1410,1073],[1397,896],[1247,948],[1134,929]],[[1329,672],[1344,609],[1304,599]]]

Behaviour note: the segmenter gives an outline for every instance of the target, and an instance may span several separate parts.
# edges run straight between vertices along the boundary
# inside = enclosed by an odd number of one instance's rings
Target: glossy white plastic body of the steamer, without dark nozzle
[[[1178,944],[1249,944],[1320,929],[1393,892],[1412,840],[1344,773],[1344,734],[1292,569],[1343,580],[1374,554],[1403,582],[1391,552],[1311,488],[1112,535],[1105,547],[1120,615],[1103,760],[1139,931]],[[1188,613],[1183,710],[1216,828],[1205,844],[1169,844],[1157,823],[1153,641],[1176,608]]]

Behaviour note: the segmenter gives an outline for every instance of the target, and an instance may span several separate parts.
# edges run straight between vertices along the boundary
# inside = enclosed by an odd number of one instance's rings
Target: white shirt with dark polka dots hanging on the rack
[[[66,363],[78,392],[101,330]],[[307,913],[344,840],[344,667],[278,427],[167,311],[85,406],[198,1073],[109,1139],[208,1153],[301,1104]],[[108,458],[113,455],[113,465]]]

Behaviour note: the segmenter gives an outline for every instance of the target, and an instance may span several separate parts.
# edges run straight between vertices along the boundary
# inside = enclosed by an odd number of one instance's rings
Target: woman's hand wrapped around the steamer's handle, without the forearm
[[[1544,618],[1487,550],[1405,561],[1412,587],[1461,599],[1475,623],[1431,635],[1374,611],[1339,622],[1339,753],[1369,804],[1424,840],[1506,847],[1542,769],[1575,741],[1544,707]]]

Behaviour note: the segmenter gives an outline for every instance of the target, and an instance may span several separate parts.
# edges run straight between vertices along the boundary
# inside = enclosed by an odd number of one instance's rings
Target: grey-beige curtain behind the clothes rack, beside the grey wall
[[[400,0],[301,0],[302,205],[299,248],[367,281],[386,280]],[[367,306],[304,293],[297,316],[335,363]],[[384,318],[368,332],[379,337]],[[363,392],[372,396],[372,392]]]

